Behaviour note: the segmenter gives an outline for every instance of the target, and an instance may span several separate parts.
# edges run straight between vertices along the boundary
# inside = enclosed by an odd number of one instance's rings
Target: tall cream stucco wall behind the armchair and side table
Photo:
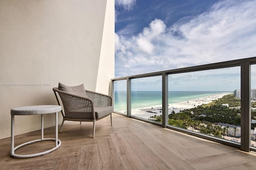
[[[0,138],[10,136],[11,108],[57,104],[58,82],[108,94],[113,77],[114,0],[0,1]],[[32,83],[50,85],[20,86]],[[54,114],[44,122],[53,126]],[[37,129],[39,115],[15,117],[15,135]]]

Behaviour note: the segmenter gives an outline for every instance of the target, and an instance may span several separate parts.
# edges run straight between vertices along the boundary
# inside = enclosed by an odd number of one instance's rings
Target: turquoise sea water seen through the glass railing
[[[222,94],[220,91],[170,91],[168,104]],[[115,111],[126,110],[126,91],[115,91]],[[132,109],[162,105],[161,91],[132,91]]]

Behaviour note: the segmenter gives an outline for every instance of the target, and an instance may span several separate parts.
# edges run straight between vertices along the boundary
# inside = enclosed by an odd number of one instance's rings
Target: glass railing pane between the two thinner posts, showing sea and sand
[[[132,79],[132,115],[162,123],[162,77]]]

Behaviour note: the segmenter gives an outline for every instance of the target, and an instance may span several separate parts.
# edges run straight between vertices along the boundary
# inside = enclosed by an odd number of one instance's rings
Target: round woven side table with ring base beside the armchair
[[[53,150],[56,150],[60,147],[61,141],[58,139],[58,112],[61,111],[61,106],[58,105],[40,105],[40,106],[24,106],[16,107],[11,109],[11,156],[15,158],[30,158],[34,156],[40,156],[48,154]],[[55,139],[54,138],[44,138],[44,114],[55,113]],[[41,115],[41,139],[36,139],[34,141],[29,141],[18,145],[14,148],[14,115]],[[55,147],[44,152],[35,153],[35,154],[15,154],[14,151],[24,145],[35,143],[38,141],[55,141]]]

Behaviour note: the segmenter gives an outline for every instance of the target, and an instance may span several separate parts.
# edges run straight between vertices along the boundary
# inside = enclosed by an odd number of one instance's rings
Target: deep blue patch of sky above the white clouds
[[[136,35],[156,18],[170,27],[181,19],[188,21],[200,15],[214,2],[218,0],[116,0],[115,32],[118,35]]]

